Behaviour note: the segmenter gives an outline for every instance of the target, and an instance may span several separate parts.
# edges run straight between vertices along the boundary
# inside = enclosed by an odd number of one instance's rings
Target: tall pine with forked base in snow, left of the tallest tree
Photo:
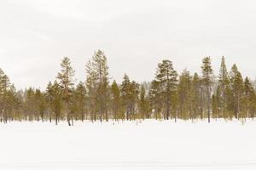
[[[71,126],[70,123],[70,99],[72,96],[72,88],[73,88],[73,77],[74,77],[74,70],[71,65],[71,61],[69,58],[64,57],[61,61],[61,72],[58,73],[57,79],[61,85],[63,100],[65,101],[65,110],[67,115],[67,123],[68,126]]]

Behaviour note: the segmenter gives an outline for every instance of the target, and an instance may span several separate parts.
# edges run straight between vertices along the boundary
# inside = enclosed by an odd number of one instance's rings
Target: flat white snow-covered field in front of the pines
[[[0,125],[0,169],[256,169],[256,122]]]

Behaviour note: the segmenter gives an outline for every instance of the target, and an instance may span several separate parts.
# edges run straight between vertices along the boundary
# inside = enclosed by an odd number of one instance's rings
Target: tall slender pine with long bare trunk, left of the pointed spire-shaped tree
[[[206,57],[202,60],[202,82],[204,87],[206,88],[207,94],[207,114],[208,114],[208,122],[211,121],[211,93],[212,93],[212,65],[211,65],[211,58]]]

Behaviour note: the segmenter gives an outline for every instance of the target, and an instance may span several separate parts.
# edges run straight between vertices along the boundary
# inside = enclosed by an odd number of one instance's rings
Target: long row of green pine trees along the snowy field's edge
[[[228,71],[222,58],[218,77],[213,76],[211,58],[202,59],[201,74],[184,70],[180,75],[172,61],[157,65],[152,82],[138,83],[126,74],[123,82],[110,82],[107,57],[97,50],[86,64],[86,79],[74,84],[70,59],[61,61],[61,71],[47,88],[17,91],[0,70],[0,121],[67,121],[109,119],[253,118],[256,111],[253,82],[242,78],[236,65]]]

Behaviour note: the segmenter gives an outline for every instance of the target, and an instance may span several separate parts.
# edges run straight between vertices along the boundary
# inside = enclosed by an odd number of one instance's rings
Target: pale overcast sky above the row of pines
[[[212,57],[218,73],[224,55],[230,69],[256,77],[256,2],[236,0],[1,0],[0,68],[17,88],[45,88],[64,56],[77,82],[96,49],[108,57],[111,77],[124,73],[143,82],[157,63],[200,71]]]

